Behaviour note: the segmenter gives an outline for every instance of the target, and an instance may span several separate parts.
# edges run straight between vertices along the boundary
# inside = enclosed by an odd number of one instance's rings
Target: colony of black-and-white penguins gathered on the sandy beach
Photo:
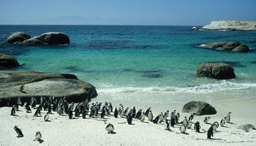
[[[35,108],[35,114],[34,116],[41,116],[41,111],[43,110],[47,110],[47,113],[45,113],[44,115],[44,120],[47,121],[49,120],[49,113],[53,112],[57,112],[59,113],[59,115],[63,115],[64,113],[68,115],[69,119],[73,119],[73,112],[75,112],[75,117],[79,117],[80,114],[82,113],[82,117],[83,119],[86,118],[86,115],[89,115],[89,117],[98,117],[98,115],[100,115],[100,119],[103,119],[105,115],[110,115],[111,112],[113,112],[113,106],[112,104],[109,102],[105,102],[104,105],[102,105],[102,103],[96,102],[96,103],[92,103],[89,105],[88,100],[86,99],[86,101],[82,101],[81,103],[77,103],[77,105],[75,106],[75,104],[72,103],[68,103],[66,97],[61,98],[60,101],[58,101],[57,99],[53,97],[50,97],[48,100],[45,99],[45,97],[41,97],[40,99],[40,105],[36,106],[36,98],[31,98],[30,103],[24,103],[24,108],[26,110],[26,112],[31,111],[31,108]],[[30,108],[30,106],[31,108]],[[6,106],[10,106],[10,98],[8,98],[6,100]],[[13,105],[13,108],[11,110],[11,115],[15,115],[15,111],[19,110],[19,106],[22,106],[22,101],[20,98],[18,98],[18,101],[15,105]],[[89,114],[90,111],[90,114]],[[223,126],[225,124],[225,122],[230,122],[230,113],[228,112],[226,117],[223,117],[223,119],[221,119],[220,125]],[[155,118],[153,118],[153,113],[151,108],[148,108],[146,110],[146,112],[143,112],[143,110],[138,110],[138,112],[136,112],[136,108],[125,108],[122,104],[120,104],[120,107],[117,109],[115,108],[114,111],[114,117],[117,118],[118,115],[120,117],[126,117],[127,119],[127,123],[128,124],[132,124],[132,118],[135,119],[139,119],[141,122],[144,122],[145,118],[147,117],[148,120],[150,122],[153,122],[154,124],[157,124],[158,122],[164,122],[164,127],[166,130],[170,130],[170,126],[174,127],[175,124],[180,124],[180,133],[185,133],[186,129],[191,129],[192,127],[192,120],[195,116],[195,113],[191,113],[191,115],[189,116],[189,119],[187,119],[187,117],[185,116],[184,119],[182,120],[182,122],[179,122],[179,118],[180,118],[180,114],[179,112],[176,113],[176,110],[173,110],[173,112],[170,113],[170,121],[168,121],[168,116],[169,116],[169,110],[166,110],[166,112],[161,112],[159,113],[159,115],[157,115]],[[207,116],[204,118],[204,122],[207,123],[209,121],[209,119],[211,119],[210,116]],[[214,122],[213,124],[211,124],[211,127],[208,129],[207,131],[207,138],[211,138],[213,136],[213,131],[218,128],[219,124],[218,122]],[[196,132],[200,133],[200,122],[197,121],[195,122],[195,126],[194,129]],[[15,131],[18,134],[18,137],[23,136],[21,130],[18,128],[18,126],[15,126],[13,129],[15,129]],[[108,124],[106,126],[106,130],[108,131],[108,133],[113,133],[114,131],[114,126],[113,124]],[[36,132],[36,140],[40,140],[40,138],[42,138],[42,135],[39,131]]]

